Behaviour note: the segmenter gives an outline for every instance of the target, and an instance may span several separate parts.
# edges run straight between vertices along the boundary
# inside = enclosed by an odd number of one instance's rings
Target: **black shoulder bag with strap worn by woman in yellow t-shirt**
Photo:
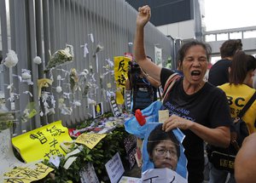
[[[239,151],[242,141],[249,135],[247,124],[241,117],[243,117],[247,109],[252,106],[255,99],[256,92],[251,99],[247,101],[246,106],[242,108],[237,117],[233,119],[233,123],[230,127],[230,146],[228,148],[207,145],[207,156],[214,168],[226,170],[234,174],[236,153]]]

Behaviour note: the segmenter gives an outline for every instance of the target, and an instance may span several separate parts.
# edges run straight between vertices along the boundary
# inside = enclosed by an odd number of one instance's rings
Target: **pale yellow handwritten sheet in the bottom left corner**
[[[53,170],[54,169],[49,168],[44,163],[36,163],[30,167],[17,167],[8,173],[3,174],[3,182],[29,183],[35,180],[43,179],[47,174],[49,174],[49,172]]]

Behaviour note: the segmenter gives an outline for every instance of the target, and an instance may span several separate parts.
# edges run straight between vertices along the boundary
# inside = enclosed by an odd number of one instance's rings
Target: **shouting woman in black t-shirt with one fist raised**
[[[174,71],[156,66],[144,49],[144,26],[150,19],[148,5],[138,9],[134,53],[137,64],[165,87]],[[178,52],[183,77],[174,83],[162,109],[169,110],[163,130],[179,128],[185,134],[183,147],[188,159],[189,183],[204,180],[204,141],[214,146],[230,144],[230,107],[224,91],[204,81],[211,48],[198,41],[183,44]]]

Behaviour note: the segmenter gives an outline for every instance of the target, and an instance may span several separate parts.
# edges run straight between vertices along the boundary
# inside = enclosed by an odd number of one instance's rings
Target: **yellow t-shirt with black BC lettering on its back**
[[[255,92],[255,89],[248,87],[246,84],[224,83],[218,88],[224,90],[227,96],[231,117],[236,117],[239,114],[242,107],[247,104],[247,101],[251,99]],[[256,132],[256,101],[248,108],[242,119],[247,123],[247,129],[250,134]]]

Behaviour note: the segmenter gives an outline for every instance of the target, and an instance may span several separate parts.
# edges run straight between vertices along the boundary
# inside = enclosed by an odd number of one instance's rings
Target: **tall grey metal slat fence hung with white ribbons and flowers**
[[[15,51],[19,60],[11,68],[1,65],[0,81],[6,106],[17,114],[15,134],[37,129],[56,120],[62,120],[63,125],[72,126],[91,116],[93,106],[88,104],[87,98],[83,97],[79,89],[70,99],[67,96],[65,98],[65,105],[72,110],[71,115],[64,115],[59,109],[59,99],[63,98],[63,93],[71,92],[68,85],[68,71],[71,68],[79,73],[87,69],[90,76],[94,73],[96,92],[90,92],[90,98],[96,100],[96,103],[103,102],[104,112],[111,110],[102,91],[114,92],[115,83],[111,74],[102,77],[106,72],[103,67],[108,64],[106,60],[113,61],[114,56],[132,52],[136,9],[124,0],[0,0],[0,15],[0,50],[3,60],[9,49]],[[152,24],[146,26],[145,42],[147,53],[152,58],[155,46],[162,49],[162,60],[174,55],[173,40],[160,33]],[[83,47],[85,43],[89,50],[86,57]],[[49,99],[42,101],[42,98],[38,99],[38,79],[50,77],[44,73],[50,59],[49,52],[53,54],[58,49],[65,49],[66,44],[73,45],[74,60],[53,70],[54,82],[43,89],[48,92],[51,102]],[[103,49],[95,56],[97,45],[103,46]],[[42,59],[42,64],[33,62],[36,56]],[[32,85],[20,79],[24,69],[31,71]],[[63,80],[58,81],[58,75]],[[58,82],[61,82],[62,93],[56,92]],[[111,83],[111,88],[107,86],[108,83]],[[80,87],[83,88],[84,84]],[[80,101],[81,106],[73,106],[74,100]],[[31,102],[34,102],[33,107],[38,113],[22,122],[20,117],[24,117],[24,110]],[[45,112],[44,102],[55,112]]]

